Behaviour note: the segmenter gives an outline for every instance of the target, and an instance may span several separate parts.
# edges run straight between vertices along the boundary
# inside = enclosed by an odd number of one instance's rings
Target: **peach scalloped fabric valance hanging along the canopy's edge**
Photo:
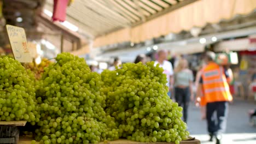
[[[236,15],[246,15],[256,8],[254,0],[201,0],[186,5],[180,9],[157,17],[156,19],[131,27],[126,31],[117,32],[98,37],[95,47],[112,44],[113,41],[141,41],[157,38],[169,33],[188,31],[193,27],[203,27],[207,23],[218,23],[221,20],[232,19]],[[123,31],[123,32],[121,32]],[[129,35],[130,38],[122,35]],[[115,39],[118,38],[118,39]],[[107,41],[107,42],[106,42]]]

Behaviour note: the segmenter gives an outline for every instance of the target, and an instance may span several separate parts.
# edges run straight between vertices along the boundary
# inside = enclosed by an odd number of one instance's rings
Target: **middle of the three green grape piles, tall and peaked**
[[[102,84],[101,76],[92,73],[83,58],[59,54],[39,82],[36,140],[47,144],[118,139],[117,123],[104,111]]]

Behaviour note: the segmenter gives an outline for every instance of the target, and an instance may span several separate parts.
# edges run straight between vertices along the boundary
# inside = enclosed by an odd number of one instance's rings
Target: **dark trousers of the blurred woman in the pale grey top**
[[[189,95],[189,87],[175,88],[175,99],[179,106],[183,107],[183,119],[185,123],[187,123],[188,119]]]

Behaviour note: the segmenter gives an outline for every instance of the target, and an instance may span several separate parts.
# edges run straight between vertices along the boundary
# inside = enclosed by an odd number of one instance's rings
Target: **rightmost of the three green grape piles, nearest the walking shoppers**
[[[175,142],[188,139],[182,107],[168,97],[166,75],[154,62],[126,63],[103,71],[106,112],[118,123],[119,137],[140,142]]]

